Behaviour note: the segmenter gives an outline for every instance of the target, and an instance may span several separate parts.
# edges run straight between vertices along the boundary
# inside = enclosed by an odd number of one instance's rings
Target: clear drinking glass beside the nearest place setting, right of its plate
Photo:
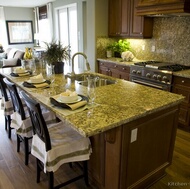
[[[87,81],[88,81],[87,95],[89,98],[89,104],[90,105],[94,104],[94,100],[96,98],[95,88],[96,88],[97,79],[98,78],[95,76],[88,76],[87,77]]]

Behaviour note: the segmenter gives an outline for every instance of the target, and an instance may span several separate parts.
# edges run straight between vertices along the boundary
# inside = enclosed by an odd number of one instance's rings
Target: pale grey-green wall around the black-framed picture
[[[18,8],[18,7],[4,7],[5,20],[32,20],[33,31],[34,29],[34,12],[32,8]],[[8,47],[14,47],[25,50],[25,47],[33,47],[34,44],[19,44],[19,45],[8,45]],[[5,47],[6,49],[7,47]]]

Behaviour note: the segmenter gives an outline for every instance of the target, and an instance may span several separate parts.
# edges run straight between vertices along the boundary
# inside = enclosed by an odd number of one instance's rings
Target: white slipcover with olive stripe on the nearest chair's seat
[[[34,135],[31,153],[44,164],[44,172],[55,172],[62,164],[90,158],[91,145],[85,138],[62,122],[48,126],[52,149],[46,152],[45,143]]]

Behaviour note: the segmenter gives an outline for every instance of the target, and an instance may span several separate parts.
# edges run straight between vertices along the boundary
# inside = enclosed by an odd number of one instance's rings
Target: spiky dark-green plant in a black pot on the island
[[[69,46],[63,46],[60,41],[52,41],[51,43],[44,42],[46,51],[44,59],[48,64],[54,65],[55,73],[64,72],[64,61],[70,58]]]

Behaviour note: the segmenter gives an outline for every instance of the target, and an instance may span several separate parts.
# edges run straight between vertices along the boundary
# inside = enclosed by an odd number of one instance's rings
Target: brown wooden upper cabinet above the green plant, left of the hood
[[[109,0],[109,36],[151,38],[153,19],[136,15],[138,0]]]

